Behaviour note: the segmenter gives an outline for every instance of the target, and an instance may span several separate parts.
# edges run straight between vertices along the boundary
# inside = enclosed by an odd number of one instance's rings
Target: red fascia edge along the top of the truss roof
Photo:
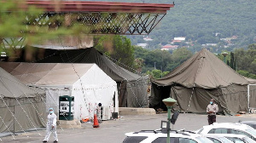
[[[173,4],[161,3],[113,3],[90,1],[26,1],[28,5],[43,8],[49,12],[108,12],[108,13],[137,13],[137,14],[166,14]]]

